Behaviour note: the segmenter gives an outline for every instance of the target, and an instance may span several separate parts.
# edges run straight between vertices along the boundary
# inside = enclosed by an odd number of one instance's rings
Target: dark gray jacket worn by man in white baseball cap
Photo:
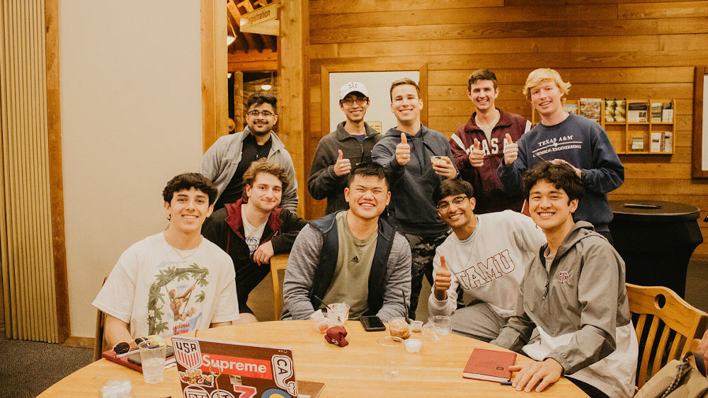
[[[384,136],[364,123],[366,137],[359,142],[344,130],[344,123],[337,125],[337,130],[322,137],[312,158],[310,176],[307,180],[307,191],[312,198],[321,200],[327,198],[326,214],[338,210],[349,210],[349,203],[344,200],[344,188],[347,186],[349,174],[337,176],[334,174],[334,164],[337,162],[338,149],[342,150],[345,159],[349,159],[352,168],[357,164],[371,161],[371,149]]]

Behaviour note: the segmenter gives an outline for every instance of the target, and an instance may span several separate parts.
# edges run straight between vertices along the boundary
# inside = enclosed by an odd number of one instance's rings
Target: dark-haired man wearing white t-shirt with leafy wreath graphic
[[[110,345],[239,319],[231,258],[201,234],[216,192],[198,173],[180,174],[167,183],[167,229],[124,251],[93,300],[106,314],[105,340]]]

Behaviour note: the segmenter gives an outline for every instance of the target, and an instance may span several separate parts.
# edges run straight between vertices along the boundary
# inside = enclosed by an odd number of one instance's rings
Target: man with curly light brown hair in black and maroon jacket
[[[251,290],[270,272],[270,258],[290,253],[297,233],[307,222],[280,207],[282,193],[290,185],[285,168],[261,158],[244,173],[244,193],[207,218],[205,238],[217,244],[234,261],[239,294],[239,323],[257,322],[249,308]]]

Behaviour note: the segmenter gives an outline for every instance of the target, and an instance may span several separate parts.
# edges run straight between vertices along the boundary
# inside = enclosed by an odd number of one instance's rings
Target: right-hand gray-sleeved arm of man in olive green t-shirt
[[[411,246],[401,234],[394,235],[386,274],[384,302],[376,314],[383,322],[406,317],[406,303],[411,300]]]

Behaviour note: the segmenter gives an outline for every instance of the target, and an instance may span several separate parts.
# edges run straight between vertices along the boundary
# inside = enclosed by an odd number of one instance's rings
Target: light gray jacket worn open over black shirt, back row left
[[[244,131],[236,132],[231,135],[219,137],[205,152],[202,157],[202,166],[199,172],[209,178],[212,183],[217,186],[217,198],[224,192],[224,189],[229,185],[229,182],[234,178],[236,169],[239,168],[241,161],[241,149],[244,147],[244,139],[249,132],[249,127],[246,126]],[[280,164],[285,169],[287,178],[290,178],[290,184],[282,193],[280,207],[297,213],[297,179],[295,179],[295,166],[292,164],[290,154],[285,150],[285,144],[280,141],[275,132],[270,132],[270,152],[268,152],[268,160]]]

